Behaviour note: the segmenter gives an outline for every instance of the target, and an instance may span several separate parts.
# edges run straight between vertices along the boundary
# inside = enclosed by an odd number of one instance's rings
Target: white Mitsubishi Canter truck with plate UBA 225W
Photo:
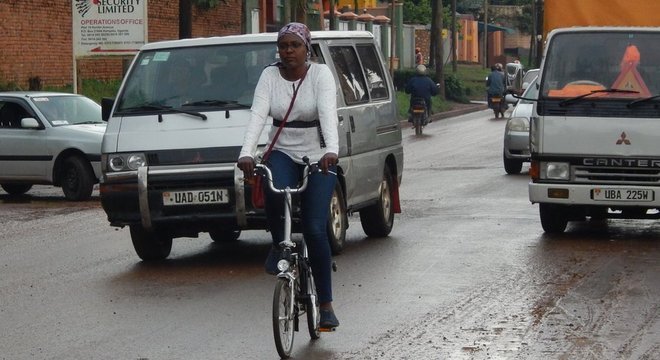
[[[540,79],[529,199],[543,230],[660,218],[660,27],[554,29]]]

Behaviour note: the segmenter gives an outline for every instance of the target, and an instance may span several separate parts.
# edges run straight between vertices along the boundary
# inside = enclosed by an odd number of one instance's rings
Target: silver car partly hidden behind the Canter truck
[[[523,162],[529,161],[529,119],[534,107],[533,100],[539,94],[536,86],[538,77],[531,81],[511,112],[511,117],[504,128],[504,152],[502,160],[507,174],[518,174],[522,170]],[[513,97],[508,95],[507,101]]]

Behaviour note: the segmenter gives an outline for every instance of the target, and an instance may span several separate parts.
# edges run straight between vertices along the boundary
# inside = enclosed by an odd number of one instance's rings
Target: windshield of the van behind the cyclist
[[[250,107],[261,71],[276,56],[275,43],[143,51],[119,94],[116,112]]]

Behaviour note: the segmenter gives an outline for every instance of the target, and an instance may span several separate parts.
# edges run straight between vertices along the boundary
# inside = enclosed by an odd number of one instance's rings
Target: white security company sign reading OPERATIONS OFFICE
[[[147,41],[147,0],[72,0],[73,55],[131,55]]]

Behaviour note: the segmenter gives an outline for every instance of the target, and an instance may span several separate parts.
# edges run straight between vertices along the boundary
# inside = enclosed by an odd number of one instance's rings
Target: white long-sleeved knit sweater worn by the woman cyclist
[[[257,142],[268,122],[268,116],[282,120],[293,97],[294,86],[300,81],[285,80],[277,66],[269,66],[263,70],[254,91],[251,116],[245,132],[243,147],[239,157],[254,157]],[[289,121],[312,121],[319,119],[325,148],[321,148],[318,129],[284,127],[280,133],[274,150],[289,155],[295,162],[302,163],[304,156],[315,162],[325,153],[339,153],[339,137],[337,134],[337,91],[335,80],[330,69],[325,64],[311,64],[307,75],[298,90],[296,101],[289,114]],[[268,142],[277,132],[277,127],[269,126]]]

